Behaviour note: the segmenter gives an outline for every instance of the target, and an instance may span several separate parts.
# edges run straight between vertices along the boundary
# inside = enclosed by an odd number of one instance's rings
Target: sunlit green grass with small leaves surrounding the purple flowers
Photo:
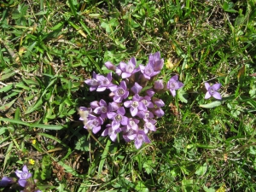
[[[255,4],[2,1],[0,177],[26,164],[42,191],[255,191]],[[84,80],[156,51],[160,77],[185,85],[161,97],[152,143],[96,142],[77,108],[101,96]],[[207,81],[222,84],[220,103],[204,99]]]

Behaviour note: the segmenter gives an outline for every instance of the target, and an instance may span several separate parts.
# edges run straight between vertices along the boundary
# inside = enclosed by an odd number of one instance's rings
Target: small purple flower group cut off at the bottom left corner
[[[41,192],[41,190],[37,189],[35,183],[29,180],[32,177],[32,173],[28,171],[27,166],[23,166],[22,171],[17,170],[15,174],[19,177],[19,185],[24,188],[20,192]],[[17,179],[15,177],[3,177],[0,181],[0,187],[6,187],[9,184],[16,183],[16,181]]]

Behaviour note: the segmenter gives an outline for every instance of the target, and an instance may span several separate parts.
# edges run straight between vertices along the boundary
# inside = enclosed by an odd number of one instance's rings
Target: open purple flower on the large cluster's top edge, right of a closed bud
[[[136,59],[132,57],[128,64],[125,62],[120,62],[119,66],[116,68],[116,73],[122,76],[122,79],[130,78],[132,74],[137,73],[139,68],[136,67]]]

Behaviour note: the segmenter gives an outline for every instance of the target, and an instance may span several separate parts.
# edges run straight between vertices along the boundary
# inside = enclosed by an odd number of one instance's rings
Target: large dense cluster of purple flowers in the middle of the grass
[[[170,90],[175,96],[183,83],[178,81],[177,75],[167,84],[157,79],[164,66],[160,52],[150,54],[146,66],[137,66],[134,57],[118,66],[108,61],[105,66],[112,71],[107,77],[93,73],[92,79],[84,81],[90,91],[104,91],[108,95],[106,99],[91,102],[90,108],[79,108],[84,128],[96,134],[105,127],[102,136],[109,136],[112,141],[121,133],[125,142],[134,141],[136,148],[150,143],[148,133],[156,131],[156,119],[165,114],[162,110],[165,102],[157,98],[157,94]]]

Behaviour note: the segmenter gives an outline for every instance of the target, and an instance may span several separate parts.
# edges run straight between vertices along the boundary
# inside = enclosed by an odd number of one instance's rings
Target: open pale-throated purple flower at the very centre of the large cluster
[[[140,102],[142,98],[143,98],[142,96],[139,96],[138,94],[136,94],[135,96],[132,97],[132,101],[124,102],[125,108],[130,108],[130,113],[132,117],[137,115],[137,112],[139,110],[147,110],[143,102]]]

